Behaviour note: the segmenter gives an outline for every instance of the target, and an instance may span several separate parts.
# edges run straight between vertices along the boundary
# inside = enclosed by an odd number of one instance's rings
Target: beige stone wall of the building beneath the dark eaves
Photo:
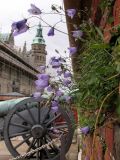
[[[0,94],[19,92],[30,95],[34,92],[35,76],[7,62],[1,63],[0,67]]]

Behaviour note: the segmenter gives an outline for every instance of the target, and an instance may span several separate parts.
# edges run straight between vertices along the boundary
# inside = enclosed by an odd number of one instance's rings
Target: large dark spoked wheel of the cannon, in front
[[[28,107],[28,104],[36,102],[34,107],[37,112]],[[26,111],[27,116],[23,116],[22,112]],[[28,119],[27,117],[31,119]],[[17,117],[19,121],[14,121]],[[43,118],[41,118],[43,117]],[[22,121],[21,121],[22,120]],[[19,123],[18,123],[19,122]],[[23,123],[24,122],[24,123]],[[19,102],[9,112],[5,118],[4,123],[4,140],[10,153],[17,157],[33,149],[36,149],[54,138],[65,136],[65,150],[67,153],[72,142],[74,133],[73,129],[73,115],[71,111],[65,109],[65,107],[59,107],[59,110],[55,113],[51,112],[50,108],[45,106],[45,100],[36,100],[34,98],[28,98]],[[20,128],[22,131],[16,131],[11,135],[11,130]],[[14,138],[19,140],[15,141]],[[17,143],[17,144],[16,144]],[[23,149],[24,148],[24,149]],[[56,142],[32,156],[37,160],[59,160],[62,146],[61,141]]]

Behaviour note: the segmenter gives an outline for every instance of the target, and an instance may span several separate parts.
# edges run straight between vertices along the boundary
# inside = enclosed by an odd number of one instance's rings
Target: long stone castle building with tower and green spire
[[[9,34],[0,36],[0,94],[19,92],[30,95],[34,92],[34,81],[38,66],[46,64],[45,40],[39,24],[31,50],[16,49],[14,37]]]

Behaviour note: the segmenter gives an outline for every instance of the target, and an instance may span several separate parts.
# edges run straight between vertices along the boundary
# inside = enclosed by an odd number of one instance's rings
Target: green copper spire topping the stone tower
[[[37,28],[37,33],[35,38],[33,39],[32,44],[45,44],[45,40],[42,35],[42,27],[41,24],[39,23],[38,28]]]

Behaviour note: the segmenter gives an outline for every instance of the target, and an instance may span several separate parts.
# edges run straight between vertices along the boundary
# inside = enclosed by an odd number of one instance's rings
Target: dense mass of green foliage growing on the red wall
[[[79,53],[79,72],[76,73],[79,91],[76,93],[76,104],[80,108],[81,126],[89,125],[93,128],[95,119],[103,99],[119,85],[118,50],[103,41],[102,32],[95,26],[88,24],[81,28],[84,31],[84,50]],[[117,75],[117,76],[116,76]],[[107,98],[102,106],[98,125],[105,120],[106,111],[115,110],[117,94]]]

